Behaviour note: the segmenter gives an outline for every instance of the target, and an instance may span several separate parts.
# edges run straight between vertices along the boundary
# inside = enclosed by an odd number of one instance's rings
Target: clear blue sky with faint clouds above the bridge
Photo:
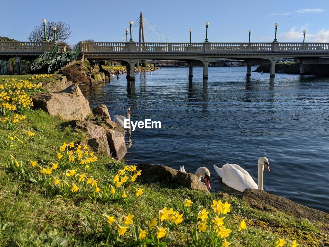
[[[2,1],[0,36],[27,41],[33,27],[45,18],[71,26],[69,43],[89,38],[117,42],[140,11],[175,42],[189,42],[189,29],[193,30],[192,42],[203,42],[207,21],[210,42],[248,41],[249,29],[252,42],[271,42],[275,22],[279,23],[279,42],[301,42],[303,30],[307,30],[306,42],[329,42],[326,0]],[[133,32],[134,41],[138,41],[138,30]]]

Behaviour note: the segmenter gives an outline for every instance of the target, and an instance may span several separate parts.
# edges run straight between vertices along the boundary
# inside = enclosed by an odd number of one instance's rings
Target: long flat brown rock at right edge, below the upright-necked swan
[[[329,214],[325,212],[294,203],[287,198],[272,195],[258,189],[245,189],[242,193],[242,199],[252,207],[261,209],[274,207],[290,213],[297,218],[303,217],[309,220],[314,220],[318,228],[329,232]]]

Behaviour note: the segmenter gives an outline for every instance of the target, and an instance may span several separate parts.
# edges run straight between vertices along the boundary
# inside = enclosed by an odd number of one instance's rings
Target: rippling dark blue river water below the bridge
[[[252,70],[256,69],[252,68]],[[235,163],[257,183],[258,158],[269,159],[264,190],[329,212],[329,79],[252,72],[246,67],[163,68],[81,86],[90,107],[106,104],[111,117],[161,121],[136,128],[127,163],[162,164],[194,173],[208,167],[215,191],[229,190],[213,165]]]

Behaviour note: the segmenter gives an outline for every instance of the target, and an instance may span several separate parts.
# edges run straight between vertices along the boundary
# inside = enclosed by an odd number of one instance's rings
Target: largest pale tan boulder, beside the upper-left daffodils
[[[77,84],[72,84],[59,93],[42,93],[32,96],[35,107],[65,120],[82,120],[90,112],[89,102]]]

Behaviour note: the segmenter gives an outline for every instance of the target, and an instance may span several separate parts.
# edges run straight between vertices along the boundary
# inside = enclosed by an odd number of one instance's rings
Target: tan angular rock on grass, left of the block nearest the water
[[[110,156],[110,148],[107,142],[105,129],[91,122],[73,120],[69,122],[73,128],[78,128],[86,132],[88,138],[86,144],[97,154]]]

